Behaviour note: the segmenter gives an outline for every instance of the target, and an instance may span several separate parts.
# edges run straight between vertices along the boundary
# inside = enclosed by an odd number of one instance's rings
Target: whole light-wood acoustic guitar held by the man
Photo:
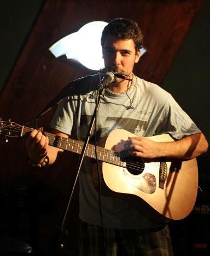
[[[14,122],[0,121],[0,134],[5,136],[27,137],[32,130]],[[83,141],[43,133],[49,137],[51,146],[78,154],[83,149]],[[162,223],[185,218],[192,211],[197,196],[196,159],[150,162],[130,157],[124,147],[129,136],[136,135],[115,129],[100,141],[96,149],[92,144],[86,149],[85,156],[96,159],[97,152],[100,160],[101,194],[128,200],[146,217]],[[149,138],[158,142],[173,141],[168,134]],[[93,180],[98,189],[98,172],[93,164]]]

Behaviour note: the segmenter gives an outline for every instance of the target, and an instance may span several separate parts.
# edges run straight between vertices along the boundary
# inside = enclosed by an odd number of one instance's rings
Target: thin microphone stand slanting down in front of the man
[[[78,177],[79,177],[79,173],[80,173],[80,169],[81,169],[81,166],[83,164],[83,160],[84,160],[86,148],[87,148],[89,140],[90,140],[91,132],[92,132],[92,129],[93,129],[94,124],[95,124],[96,115],[97,115],[98,109],[100,107],[101,100],[104,97],[105,88],[107,86],[108,86],[108,82],[106,82],[106,81],[104,81],[104,82],[101,81],[98,84],[98,89],[97,89],[98,90],[98,93],[97,93],[98,99],[96,100],[96,103],[98,102],[98,104],[96,105],[95,110],[94,110],[94,114],[92,115],[91,123],[90,123],[89,130],[88,130],[88,134],[86,135],[86,139],[85,139],[85,142],[84,142],[83,150],[81,151],[81,155],[80,155],[80,158],[79,158],[79,163],[78,163],[77,169],[75,170],[75,173],[74,173],[74,177],[73,177],[73,181],[72,181],[72,186],[71,186],[71,190],[70,190],[71,194],[69,196],[69,200],[68,200],[65,212],[64,212],[63,217],[62,217],[61,226],[58,229],[56,249],[53,252],[54,255],[57,255],[57,253],[59,252],[59,248],[60,247],[62,248],[62,246],[63,246],[61,244],[62,235],[63,234],[65,234],[65,235],[68,234],[67,230],[63,229],[63,226],[64,226],[65,221],[66,221],[66,217],[67,217],[67,213],[68,213],[68,208],[69,208],[69,206],[71,204],[71,201],[72,201],[75,185],[77,183],[77,180],[78,180]]]

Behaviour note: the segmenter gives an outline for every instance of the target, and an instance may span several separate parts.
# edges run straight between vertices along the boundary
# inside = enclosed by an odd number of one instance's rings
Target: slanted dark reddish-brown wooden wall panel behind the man
[[[46,1],[3,90],[0,116],[20,124],[30,122],[67,83],[96,73],[65,56],[56,59],[48,50],[58,39],[95,20],[108,22],[124,17],[137,21],[144,34],[147,53],[142,56],[135,72],[161,85],[201,4],[202,0],[115,0],[103,1],[103,5],[97,0]],[[41,118],[39,126],[48,130],[52,115],[53,111]],[[4,144],[1,138],[0,143],[0,184],[2,187],[32,189],[37,233],[29,242],[38,252],[48,253],[66,205],[76,157],[63,153],[55,166],[34,172],[26,162],[24,139],[11,138]],[[67,220],[70,235],[66,241],[67,247],[71,247],[71,255],[75,252],[73,244],[77,244],[77,215],[75,196]]]

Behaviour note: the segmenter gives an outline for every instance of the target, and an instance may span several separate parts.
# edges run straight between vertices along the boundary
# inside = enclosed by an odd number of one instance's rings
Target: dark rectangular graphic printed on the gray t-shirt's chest
[[[86,136],[92,116],[81,116],[80,119],[80,136]],[[122,117],[102,117],[97,116],[97,139],[106,136],[114,129],[124,129],[130,133],[138,135],[147,127],[148,121],[136,120]]]

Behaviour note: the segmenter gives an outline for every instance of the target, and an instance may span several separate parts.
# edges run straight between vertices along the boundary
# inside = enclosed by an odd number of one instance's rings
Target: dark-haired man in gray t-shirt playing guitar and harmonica
[[[165,90],[133,74],[142,47],[136,22],[115,19],[101,38],[106,70],[124,74],[108,85],[97,115],[97,140],[116,128],[138,135],[125,142],[130,155],[141,158],[190,159],[207,151],[207,141],[190,117]],[[69,95],[54,115],[51,127],[68,138],[73,132],[84,140],[95,108],[98,75],[74,81]],[[148,136],[169,133],[175,141],[158,143]],[[35,164],[52,164],[62,151],[48,146],[48,137],[33,130],[27,139],[28,157]],[[46,157],[47,156],[47,157]],[[47,159],[47,160],[46,160]],[[167,225],[143,216],[129,202],[101,196],[92,182],[92,162],[85,158],[80,173],[81,239],[79,255],[172,255]],[[103,223],[103,226],[102,226]]]

